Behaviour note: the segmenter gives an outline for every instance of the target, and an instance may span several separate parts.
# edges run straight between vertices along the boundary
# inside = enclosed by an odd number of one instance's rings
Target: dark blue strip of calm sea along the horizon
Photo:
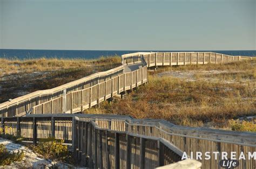
[[[177,52],[177,51],[78,51],[78,50],[6,50],[0,49],[0,58],[84,58],[95,59],[107,55],[122,55],[133,52]],[[191,52],[191,51],[189,51]],[[200,51],[193,51],[200,52]],[[207,52],[207,51],[205,51]],[[256,57],[256,50],[252,51],[211,51],[229,55],[244,55]]]

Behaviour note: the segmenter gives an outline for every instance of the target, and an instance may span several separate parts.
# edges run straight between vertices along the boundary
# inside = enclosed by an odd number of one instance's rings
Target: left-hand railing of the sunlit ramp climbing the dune
[[[2,117],[13,117],[13,116],[24,116],[32,107],[44,102],[51,101],[55,98],[63,96],[72,91],[82,90],[97,85],[100,82],[107,81],[115,76],[123,74],[124,66],[111,69],[106,72],[99,72],[87,76],[85,78],[66,83],[65,85],[48,89],[38,90],[33,93],[14,98],[13,100],[0,104],[0,116]],[[65,99],[63,100],[65,104]]]

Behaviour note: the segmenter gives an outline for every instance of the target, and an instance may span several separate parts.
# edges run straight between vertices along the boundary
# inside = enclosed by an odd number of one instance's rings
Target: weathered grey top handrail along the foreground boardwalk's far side
[[[175,125],[165,120],[157,119],[134,119],[131,116],[125,115],[104,115],[104,114],[43,114],[43,115],[26,115],[22,118],[41,118],[41,117],[76,117],[76,118],[92,118],[96,121],[124,121],[126,124],[131,126],[152,126],[161,130],[168,135],[182,136],[189,138],[197,138],[203,140],[210,140],[212,142],[238,144],[244,146],[256,147],[256,133],[253,132],[241,132],[241,131],[230,131],[220,129],[205,129],[195,128],[189,126]],[[3,119],[14,119],[17,117],[2,117]],[[21,118],[21,117],[19,117]],[[0,117],[1,119],[1,117]],[[79,119],[84,121],[83,119]],[[168,131],[170,130],[170,131]],[[190,132],[191,131],[191,132]],[[179,133],[180,132],[180,133]],[[186,132],[186,133],[184,133]],[[213,133],[218,134],[214,136]],[[201,135],[200,134],[204,134]],[[207,135],[207,137],[205,137]],[[239,138],[241,140],[239,140]],[[236,140],[236,141],[235,141]]]

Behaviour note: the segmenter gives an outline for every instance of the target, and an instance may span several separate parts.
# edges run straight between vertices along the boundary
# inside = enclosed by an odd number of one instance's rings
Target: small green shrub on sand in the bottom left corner
[[[0,166],[10,165],[14,161],[21,161],[25,153],[23,151],[8,152],[3,144],[0,144]]]

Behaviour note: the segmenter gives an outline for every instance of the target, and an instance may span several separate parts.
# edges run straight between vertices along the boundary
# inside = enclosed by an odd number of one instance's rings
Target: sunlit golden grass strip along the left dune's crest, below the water
[[[106,65],[120,65],[121,58],[116,56],[100,57],[99,59],[85,60],[85,59],[57,59],[57,58],[39,58],[39,59],[1,59],[0,58],[0,75],[10,73],[31,73],[31,72],[45,72],[56,71],[60,69],[80,69],[88,66],[106,66]]]

